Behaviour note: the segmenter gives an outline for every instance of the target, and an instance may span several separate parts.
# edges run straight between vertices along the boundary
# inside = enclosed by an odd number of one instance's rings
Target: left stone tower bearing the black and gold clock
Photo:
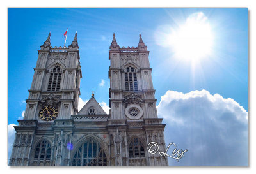
[[[50,37],[51,33],[38,50],[24,119],[18,120],[19,126],[15,126],[17,133],[10,158],[11,166],[33,163],[58,166],[64,163],[66,149],[63,148],[63,141],[70,139],[72,129],[61,129],[60,125],[63,120],[67,120],[68,124],[71,115],[78,112],[82,72],[77,33],[68,47],[52,47]],[[33,147],[33,143],[43,139],[37,147]],[[44,163],[40,163],[42,159]]]

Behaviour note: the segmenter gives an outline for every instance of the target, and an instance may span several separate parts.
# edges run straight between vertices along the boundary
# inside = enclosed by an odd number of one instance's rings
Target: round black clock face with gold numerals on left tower
[[[43,121],[52,121],[58,117],[58,110],[53,106],[44,106],[39,112],[39,117]]]

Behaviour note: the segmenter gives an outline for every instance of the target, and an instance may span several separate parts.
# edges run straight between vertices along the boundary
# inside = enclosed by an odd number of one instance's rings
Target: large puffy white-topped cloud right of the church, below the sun
[[[234,99],[206,90],[167,91],[157,112],[166,122],[166,145],[188,149],[179,163],[169,158],[170,165],[248,165],[248,113]]]

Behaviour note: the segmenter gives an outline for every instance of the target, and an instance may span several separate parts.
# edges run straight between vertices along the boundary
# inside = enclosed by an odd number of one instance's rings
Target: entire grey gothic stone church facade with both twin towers
[[[136,48],[119,47],[113,35],[109,114],[94,94],[78,112],[82,71],[77,34],[71,45],[58,48],[51,47],[50,36],[38,50],[24,119],[15,126],[10,166],[168,165],[166,156],[147,151],[152,141],[165,151],[165,125],[157,117],[149,52],[141,35]],[[48,106],[55,119],[39,117],[43,109],[50,114]]]

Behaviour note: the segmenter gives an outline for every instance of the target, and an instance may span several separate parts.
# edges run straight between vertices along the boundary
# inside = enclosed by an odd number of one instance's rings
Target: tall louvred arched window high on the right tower
[[[132,66],[125,68],[124,81],[126,91],[138,91],[137,74]]]

